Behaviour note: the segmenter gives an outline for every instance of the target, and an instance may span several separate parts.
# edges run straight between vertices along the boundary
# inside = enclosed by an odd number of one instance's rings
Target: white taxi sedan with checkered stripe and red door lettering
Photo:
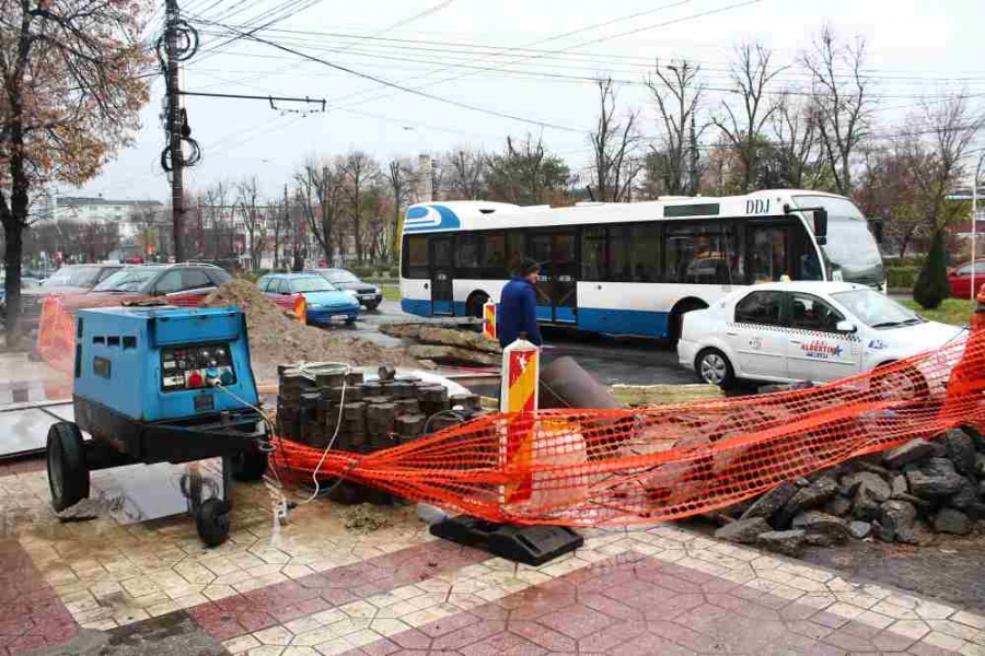
[[[721,387],[737,379],[827,383],[936,349],[962,331],[864,285],[776,282],[685,314],[677,359]]]

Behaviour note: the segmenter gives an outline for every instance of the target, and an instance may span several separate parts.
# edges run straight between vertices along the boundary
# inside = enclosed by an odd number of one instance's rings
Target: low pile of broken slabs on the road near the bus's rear
[[[380,332],[417,342],[407,348],[412,358],[442,364],[497,366],[502,349],[478,332],[433,324],[381,324]]]

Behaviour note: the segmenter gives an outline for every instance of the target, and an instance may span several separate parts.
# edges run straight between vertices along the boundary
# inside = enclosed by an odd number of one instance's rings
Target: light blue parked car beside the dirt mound
[[[329,324],[334,317],[345,317],[354,324],[361,306],[356,292],[339,290],[317,273],[270,273],[256,285],[270,301],[293,313],[298,298],[308,305],[308,323]]]

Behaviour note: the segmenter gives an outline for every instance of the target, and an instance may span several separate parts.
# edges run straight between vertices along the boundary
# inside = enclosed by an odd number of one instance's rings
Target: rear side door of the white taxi
[[[788,329],[784,326],[784,292],[751,292],[735,303],[726,340],[743,378],[783,380],[787,376]]]

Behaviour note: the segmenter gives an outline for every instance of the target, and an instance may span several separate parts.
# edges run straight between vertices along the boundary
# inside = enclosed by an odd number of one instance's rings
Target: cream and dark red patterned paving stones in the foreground
[[[412,508],[355,535],[317,502],[275,530],[266,489],[239,485],[230,541],[206,549],[186,517],[61,524],[43,471],[7,473],[0,656],[86,653],[80,630],[140,653],[131,639],[175,618],[199,647],[256,656],[985,656],[985,617],[670,525],[586,530],[583,549],[530,567],[434,540]]]

